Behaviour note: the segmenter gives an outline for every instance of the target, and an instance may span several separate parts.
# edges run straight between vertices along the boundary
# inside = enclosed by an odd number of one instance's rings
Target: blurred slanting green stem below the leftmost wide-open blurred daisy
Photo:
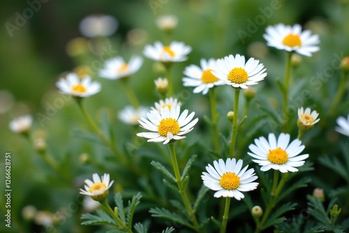
[[[91,128],[94,130],[94,132],[101,137],[101,139],[104,141],[104,143],[110,148],[112,149],[112,151],[114,152],[114,154],[119,158],[119,160],[121,161],[121,163],[123,163],[124,165],[128,165],[128,162],[124,156],[124,153],[121,153],[121,151],[119,151],[119,149],[117,149],[117,147],[104,135],[104,133],[102,132],[102,130],[100,128],[98,128],[98,126],[96,125],[96,123],[94,123],[94,121],[91,119],[91,117],[89,117],[89,114],[87,113],[87,111],[85,110],[84,106],[82,105],[82,99],[77,99],[77,105],[79,105],[80,110],[82,112],[82,114],[84,115],[84,117],[87,119],[87,121],[89,122],[89,125],[91,126]]]

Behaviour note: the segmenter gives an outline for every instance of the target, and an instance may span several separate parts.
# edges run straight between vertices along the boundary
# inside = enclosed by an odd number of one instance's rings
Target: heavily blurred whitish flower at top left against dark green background
[[[84,17],[79,24],[80,33],[88,38],[96,36],[110,36],[119,23],[111,15],[89,15]]]

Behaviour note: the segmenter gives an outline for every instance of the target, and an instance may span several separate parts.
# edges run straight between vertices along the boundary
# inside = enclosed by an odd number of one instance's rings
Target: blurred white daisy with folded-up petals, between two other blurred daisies
[[[143,59],[139,56],[131,57],[128,63],[126,63],[122,57],[114,57],[105,61],[103,68],[99,70],[99,76],[108,80],[129,77],[140,69],[142,63]]]

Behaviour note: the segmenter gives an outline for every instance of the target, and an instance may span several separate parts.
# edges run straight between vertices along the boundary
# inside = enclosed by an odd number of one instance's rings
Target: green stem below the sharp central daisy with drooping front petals
[[[188,196],[186,195],[186,190],[184,190],[183,183],[181,180],[181,174],[179,172],[177,155],[176,155],[176,150],[174,148],[174,143],[170,143],[170,144],[168,144],[168,146],[170,147],[170,155],[171,155],[171,160],[172,160],[174,177],[176,177],[176,183],[177,183],[177,186],[179,188],[179,194],[181,195],[181,199],[184,202],[184,206],[186,206],[186,211],[188,211],[188,215],[190,216],[191,221],[194,224],[194,230],[199,232],[198,220],[196,219],[195,213],[194,213],[193,209],[191,208],[191,204],[189,203]]]

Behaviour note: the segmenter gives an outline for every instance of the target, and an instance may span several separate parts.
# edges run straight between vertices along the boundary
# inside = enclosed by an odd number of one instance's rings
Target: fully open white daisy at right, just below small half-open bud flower
[[[309,154],[298,156],[305,146],[301,145],[302,141],[295,139],[290,142],[290,135],[281,133],[278,140],[274,133],[269,133],[269,142],[265,137],[255,139],[255,144],[248,146],[252,151],[248,155],[252,156],[253,162],[261,165],[260,170],[263,172],[274,169],[280,172],[297,172],[297,168],[304,165],[304,159],[309,157]]]

